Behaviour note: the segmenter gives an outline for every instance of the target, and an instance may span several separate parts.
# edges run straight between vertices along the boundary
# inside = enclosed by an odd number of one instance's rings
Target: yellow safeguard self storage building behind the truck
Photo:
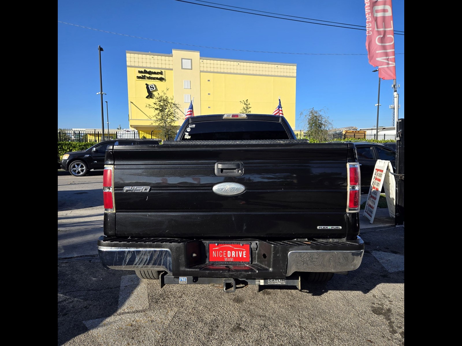
[[[284,116],[295,129],[297,64],[204,58],[198,51],[180,49],[126,54],[129,125],[140,137],[156,131],[153,110],[146,105],[164,90],[181,105],[176,125],[182,124],[193,98],[194,114],[205,115],[239,113],[245,100],[250,113],[271,114],[280,97]]]

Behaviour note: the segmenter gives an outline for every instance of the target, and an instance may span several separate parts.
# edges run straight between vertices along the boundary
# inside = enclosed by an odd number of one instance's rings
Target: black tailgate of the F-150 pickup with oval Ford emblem
[[[114,147],[107,156],[115,166],[114,235],[294,239],[358,234],[358,227],[348,227],[358,213],[346,213],[347,162],[355,160],[351,144],[245,142]],[[216,191],[222,183],[241,190]]]

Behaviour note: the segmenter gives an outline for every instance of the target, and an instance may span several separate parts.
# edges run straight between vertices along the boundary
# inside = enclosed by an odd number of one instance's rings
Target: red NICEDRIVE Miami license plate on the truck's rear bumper
[[[209,263],[250,263],[250,244],[209,243]]]

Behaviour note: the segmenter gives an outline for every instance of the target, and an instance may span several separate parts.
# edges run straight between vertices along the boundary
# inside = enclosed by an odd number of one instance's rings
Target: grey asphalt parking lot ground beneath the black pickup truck
[[[301,290],[161,289],[99,261],[102,181],[58,170],[58,345],[404,345],[404,227],[365,228],[357,270]]]

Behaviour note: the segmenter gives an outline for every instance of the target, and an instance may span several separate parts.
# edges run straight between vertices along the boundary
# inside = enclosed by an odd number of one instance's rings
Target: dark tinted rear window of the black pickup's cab
[[[290,139],[284,125],[275,121],[220,120],[189,124],[182,141]]]

